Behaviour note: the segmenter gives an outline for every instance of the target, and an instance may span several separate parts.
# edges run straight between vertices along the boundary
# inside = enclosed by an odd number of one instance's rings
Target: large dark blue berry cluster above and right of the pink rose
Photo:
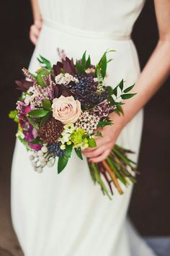
[[[107,98],[107,89],[102,92],[97,90],[98,82],[94,82],[94,74],[77,74],[79,82],[68,85],[73,93],[74,98],[81,102],[83,108],[91,108]]]

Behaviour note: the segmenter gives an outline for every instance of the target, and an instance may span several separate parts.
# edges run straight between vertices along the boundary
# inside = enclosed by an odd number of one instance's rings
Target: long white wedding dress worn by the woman
[[[114,60],[108,64],[107,84],[114,87],[123,78],[127,86],[132,85],[140,68],[130,33],[143,4],[143,0],[40,0],[43,27],[30,71],[39,67],[39,54],[54,64],[57,48],[73,59],[80,59],[86,50],[94,64],[104,51],[115,49],[108,56]],[[142,125],[140,111],[117,140],[135,151],[135,161]],[[131,231],[125,220],[133,186],[122,188],[124,195],[115,191],[109,200],[98,185],[94,186],[86,160],[75,155],[61,174],[57,174],[56,165],[38,174],[17,141],[12,164],[12,221],[24,255],[153,255],[146,246],[141,252],[140,246],[131,252]],[[133,232],[134,243],[140,241],[136,237]]]

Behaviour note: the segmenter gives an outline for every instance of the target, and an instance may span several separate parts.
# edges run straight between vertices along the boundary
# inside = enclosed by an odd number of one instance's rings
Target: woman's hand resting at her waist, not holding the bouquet
[[[30,27],[30,40],[35,46],[37,44],[37,39],[40,35],[41,28],[42,28],[42,19],[35,20],[35,23]]]

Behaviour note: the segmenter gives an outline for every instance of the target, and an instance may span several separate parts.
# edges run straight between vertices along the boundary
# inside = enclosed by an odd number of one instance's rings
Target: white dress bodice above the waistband
[[[39,0],[42,17],[79,30],[130,36],[145,0]]]

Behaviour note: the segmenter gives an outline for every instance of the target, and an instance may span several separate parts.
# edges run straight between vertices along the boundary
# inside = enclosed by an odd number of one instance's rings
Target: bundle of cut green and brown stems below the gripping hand
[[[123,191],[120,182],[126,187],[130,182],[136,182],[136,163],[128,158],[128,153],[133,153],[133,151],[115,145],[105,161],[100,163],[90,163],[88,161],[89,171],[94,184],[98,183],[103,194],[107,195],[109,199],[112,199],[111,195],[113,195],[112,185],[122,195]]]

